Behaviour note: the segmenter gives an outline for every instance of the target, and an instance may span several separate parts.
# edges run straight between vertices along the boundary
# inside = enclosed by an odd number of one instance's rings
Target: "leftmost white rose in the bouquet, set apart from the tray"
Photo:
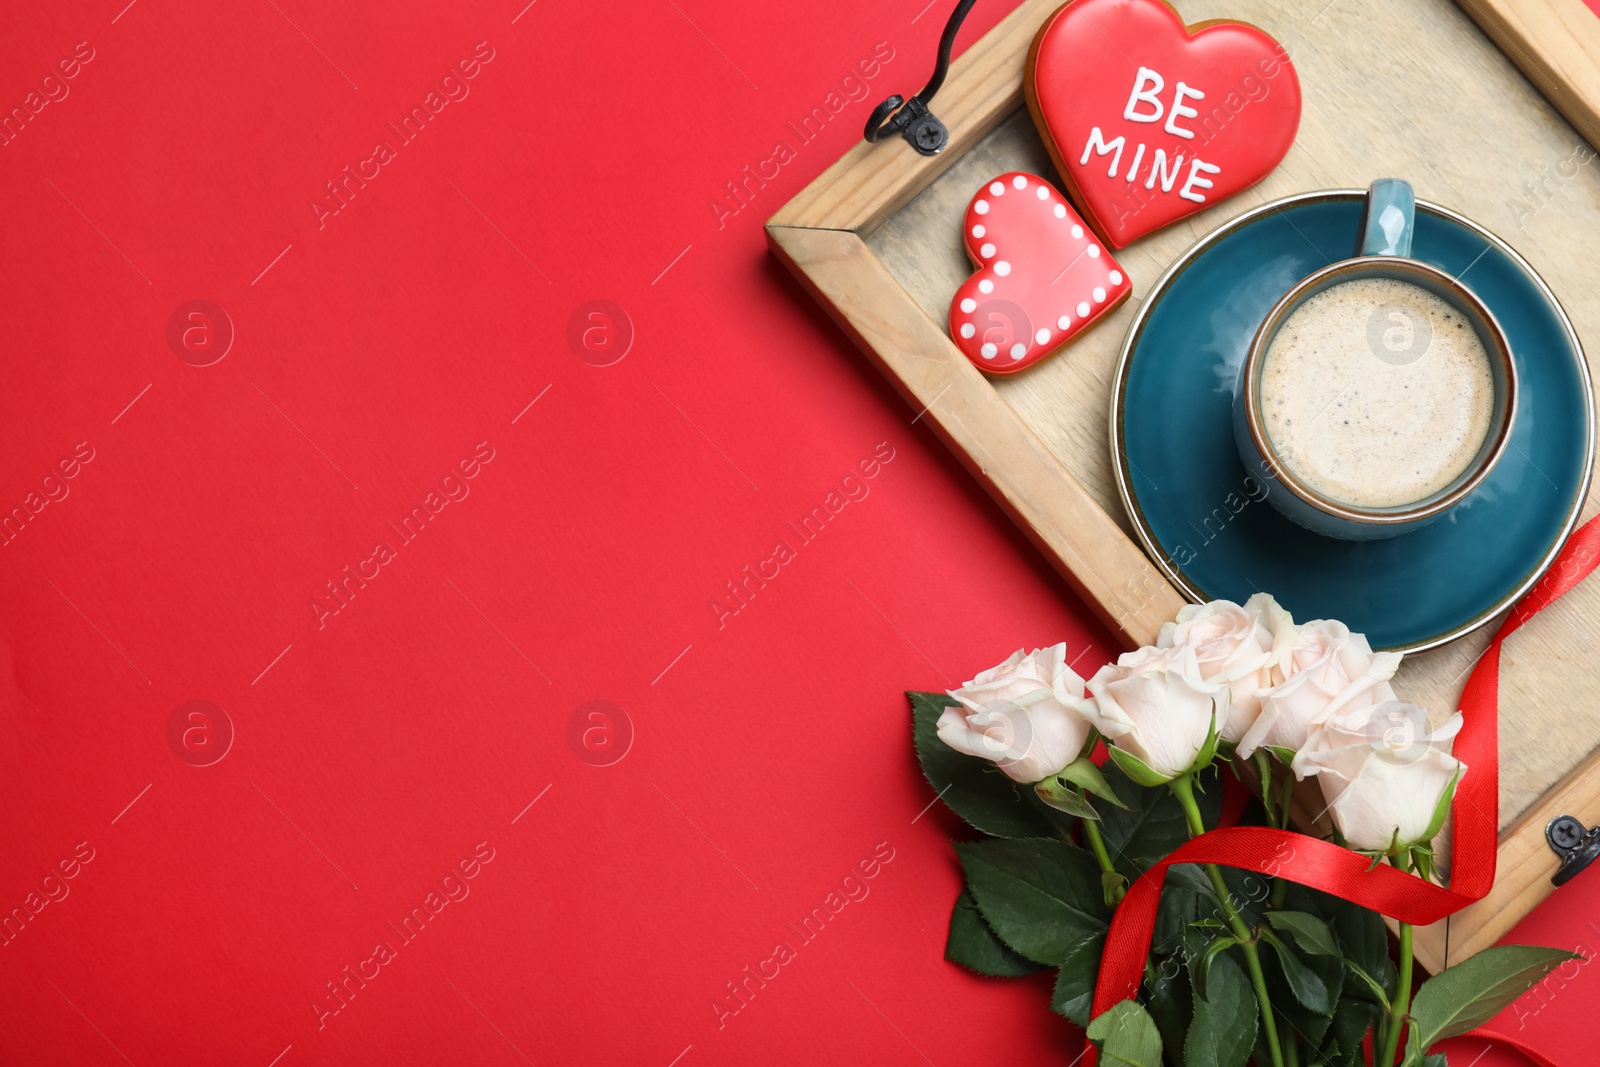
[[[1083,678],[1067,665],[1067,646],[1011,653],[998,667],[952,689],[962,702],[939,713],[939,741],[992,760],[1019,782],[1058,774],[1083,753],[1090,725],[1078,712]]]

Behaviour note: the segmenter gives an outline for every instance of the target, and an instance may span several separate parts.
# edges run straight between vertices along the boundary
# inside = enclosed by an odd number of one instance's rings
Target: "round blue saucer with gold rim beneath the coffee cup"
[[[1290,197],[1202,238],[1139,306],[1112,382],[1112,464],[1146,552],[1195,600],[1270,592],[1374,648],[1421,651],[1526,592],[1578,522],[1594,402],[1578,334],[1509,245],[1418,200],[1413,256],[1461,277],[1506,330],[1520,392],[1510,448],[1464,504],[1390,541],[1331,541],[1266,502],[1234,446],[1238,366],[1290,286],[1355,248],[1365,192]],[[1282,490],[1278,490],[1282,491]]]

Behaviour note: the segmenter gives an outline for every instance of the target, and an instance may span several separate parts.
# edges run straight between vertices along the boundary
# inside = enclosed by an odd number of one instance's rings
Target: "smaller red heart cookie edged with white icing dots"
[[[950,336],[979,370],[1014,374],[1122,304],[1133,283],[1038,174],[1010,171],[966,205],[978,274],[950,301]]]

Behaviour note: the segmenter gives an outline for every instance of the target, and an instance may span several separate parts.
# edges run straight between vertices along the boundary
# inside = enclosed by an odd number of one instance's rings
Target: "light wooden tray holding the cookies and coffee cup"
[[[1130,648],[1182,606],[1146,558],[1117,498],[1107,446],[1110,376],[1134,309],[1195,238],[1253,206],[1400,174],[1419,198],[1474,218],[1544,277],[1579,336],[1600,336],[1592,262],[1600,165],[1506,54],[1448,0],[1178,0],[1189,22],[1261,26],[1294,58],[1299,136],[1259,186],[1118,253],[1134,294],[1064,354],[989,379],[946,334],[950,294],[971,267],[960,219],[997,173],[1059,184],[1022,106],[1022,64],[1061,0],[1024,0],[950,69],[934,112],[938,157],[901,139],[858,144],[784,205],[773,251],[878,363],[968,470]],[[1590,136],[1600,134],[1600,19],[1579,0],[1462,0]],[[1586,506],[1584,518],[1595,506]],[[1488,633],[1406,657],[1397,688],[1435,713],[1456,707]],[[1501,673],[1499,875],[1488,899],[1418,931],[1430,969],[1494,944],[1550,891],[1544,825],[1600,822],[1600,582],[1522,627]],[[1050,635],[1040,635],[1046,641]],[[1314,785],[1314,784],[1312,784]],[[1317,805],[1320,808],[1320,805]],[[1600,877],[1600,875],[1586,875]]]

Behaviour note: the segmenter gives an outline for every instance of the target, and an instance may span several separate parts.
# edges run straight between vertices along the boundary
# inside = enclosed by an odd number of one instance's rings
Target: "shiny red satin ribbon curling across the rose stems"
[[[1173,864],[1221,864],[1331,893],[1414,926],[1437,923],[1488,896],[1494,886],[1499,837],[1499,653],[1501,645],[1534,614],[1589,576],[1600,563],[1600,518],[1571,536],[1546,576],[1512,608],[1496,630],[1461,694],[1464,723],[1454,755],[1467,765],[1451,808],[1451,885],[1424,881],[1395,867],[1371,867],[1371,859],[1331,841],[1266,827],[1227,827],[1202,833],[1146,870],[1130,888],[1112,918],[1094,985],[1094,1013],[1101,1014],[1139,992],[1150,955],[1155,910],[1162,883]],[[1498,1033],[1478,1037],[1506,1040]],[[1526,1046],[1520,1051],[1530,1053]],[[1541,1064],[1554,1067],[1542,1056]],[[1093,1067],[1093,1043],[1083,1057]]]

